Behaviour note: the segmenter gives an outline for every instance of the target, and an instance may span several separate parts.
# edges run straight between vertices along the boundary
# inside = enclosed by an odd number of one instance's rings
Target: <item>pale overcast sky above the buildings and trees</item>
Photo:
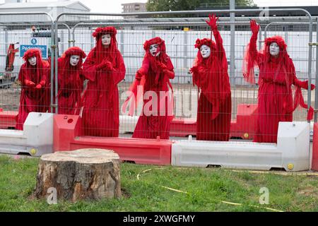
[[[28,0],[45,1],[45,0]],[[52,0],[47,0],[47,2]],[[146,2],[147,0],[79,0],[91,12],[95,13],[122,13],[122,4],[131,2]],[[4,2],[4,0],[0,0]],[[318,6],[318,0],[254,0],[258,6]]]

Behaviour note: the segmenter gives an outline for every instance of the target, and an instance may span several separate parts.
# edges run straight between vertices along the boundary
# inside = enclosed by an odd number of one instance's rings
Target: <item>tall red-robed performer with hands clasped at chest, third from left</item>
[[[119,94],[117,84],[124,79],[124,59],[117,49],[117,30],[97,28],[96,46],[83,64],[89,80],[83,93],[83,129],[89,136],[119,135]]]

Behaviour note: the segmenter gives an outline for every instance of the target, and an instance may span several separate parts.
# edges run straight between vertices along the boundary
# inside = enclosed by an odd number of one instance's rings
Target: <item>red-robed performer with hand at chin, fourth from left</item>
[[[169,139],[172,120],[172,85],[169,79],[175,78],[170,57],[165,52],[165,41],[154,37],[143,44],[146,54],[141,68],[130,90],[137,97],[137,86],[143,87],[143,111],[136,124],[133,138]],[[133,99],[135,100],[135,98]],[[125,103],[127,103],[126,100]],[[137,100],[138,102],[138,100]],[[134,107],[134,103],[131,103]],[[126,104],[124,104],[125,111]],[[131,114],[131,111],[130,111]]]

